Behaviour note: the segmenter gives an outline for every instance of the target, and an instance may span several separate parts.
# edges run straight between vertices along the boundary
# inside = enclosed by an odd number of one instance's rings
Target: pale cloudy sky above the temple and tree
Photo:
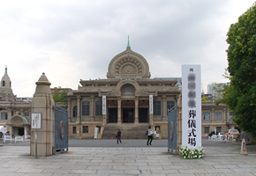
[[[45,72],[50,87],[77,90],[80,79],[106,78],[126,49],[144,56],[151,78],[182,77],[201,65],[202,90],[225,83],[227,33],[255,0],[2,1],[0,76],[5,65],[17,97],[33,97]],[[2,71],[1,71],[2,70]],[[2,76],[2,77],[3,77]]]

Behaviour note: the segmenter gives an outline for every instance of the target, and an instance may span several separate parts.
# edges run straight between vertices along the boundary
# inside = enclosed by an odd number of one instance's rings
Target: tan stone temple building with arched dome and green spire
[[[150,77],[147,60],[132,51],[128,41],[126,50],[109,62],[106,79],[80,80],[78,90],[68,94],[70,136],[93,137],[95,127],[103,130],[110,124],[117,128],[140,124],[157,127],[167,137],[167,111],[181,91],[177,80]]]

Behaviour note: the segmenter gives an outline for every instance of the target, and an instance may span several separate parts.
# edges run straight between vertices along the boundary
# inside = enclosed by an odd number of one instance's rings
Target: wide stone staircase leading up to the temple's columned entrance
[[[147,139],[148,123],[108,123],[102,133],[102,139],[115,139],[118,128],[121,130],[121,139]]]

